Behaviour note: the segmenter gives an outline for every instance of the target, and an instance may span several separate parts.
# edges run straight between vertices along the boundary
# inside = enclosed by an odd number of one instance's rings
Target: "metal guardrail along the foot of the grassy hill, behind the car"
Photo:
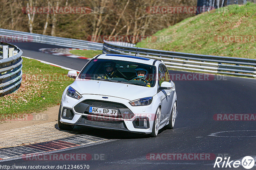
[[[104,41],[103,53],[134,55],[136,47],[120,46]],[[172,51],[138,48],[137,56],[163,60],[166,67],[174,70],[228,74],[256,78],[256,60],[236,57],[180,53]]]

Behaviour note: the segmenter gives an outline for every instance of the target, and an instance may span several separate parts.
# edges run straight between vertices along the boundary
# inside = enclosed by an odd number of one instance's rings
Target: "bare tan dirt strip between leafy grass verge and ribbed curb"
[[[60,105],[56,105],[54,107],[47,108],[43,112],[36,112],[29,115],[26,115],[23,118],[17,118],[7,121],[1,121],[0,123],[0,131],[6,131],[21,127],[26,127],[34,124],[43,124],[53,121],[58,121],[58,113],[59,113]]]

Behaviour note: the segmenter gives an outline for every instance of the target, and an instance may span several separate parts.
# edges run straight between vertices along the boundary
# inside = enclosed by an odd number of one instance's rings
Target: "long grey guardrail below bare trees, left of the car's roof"
[[[49,35],[13,31],[13,30],[6,30],[6,29],[0,29],[0,36],[6,37],[7,40],[14,41],[14,42],[18,41],[17,39],[19,39],[21,42],[28,41],[28,42],[36,42],[36,43],[42,43],[42,44],[51,44],[51,45],[65,46],[65,47],[72,47],[72,48],[85,48],[85,49],[92,49],[92,50],[102,50],[102,47],[103,47],[102,43],[97,43],[92,41],[54,37]]]

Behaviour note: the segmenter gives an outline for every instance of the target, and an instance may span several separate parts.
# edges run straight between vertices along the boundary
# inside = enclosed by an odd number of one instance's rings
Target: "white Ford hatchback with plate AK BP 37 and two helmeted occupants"
[[[175,84],[163,61],[123,54],[99,54],[63,92],[58,125],[130,131],[156,137],[177,117]]]

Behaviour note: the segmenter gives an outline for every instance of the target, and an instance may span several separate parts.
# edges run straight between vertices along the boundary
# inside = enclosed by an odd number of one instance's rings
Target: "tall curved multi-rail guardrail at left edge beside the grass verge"
[[[12,93],[20,87],[22,54],[17,46],[0,42],[0,96]]]

